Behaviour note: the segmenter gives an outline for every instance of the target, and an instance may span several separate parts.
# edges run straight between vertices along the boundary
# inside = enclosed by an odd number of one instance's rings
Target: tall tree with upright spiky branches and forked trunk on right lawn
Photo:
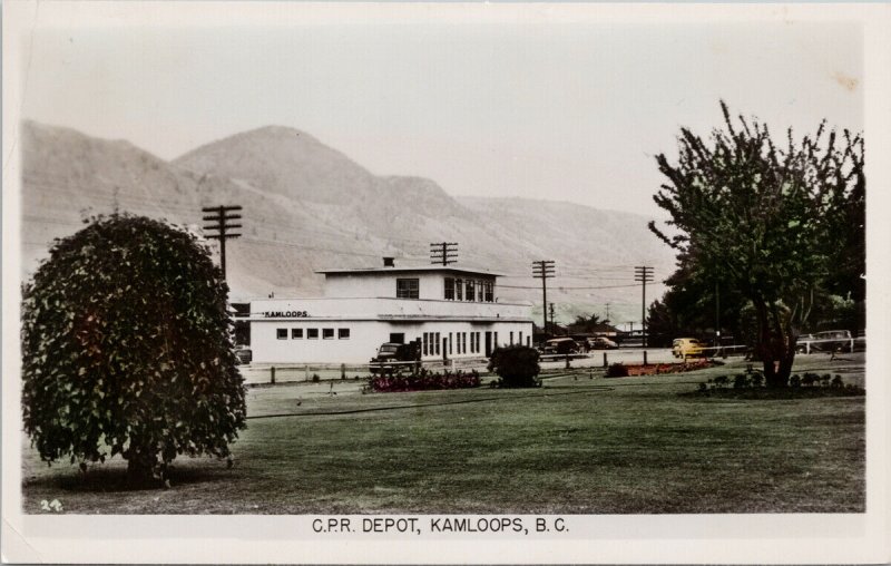
[[[766,125],[731,118],[705,140],[683,128],[676,164],[660,154],[668,182],[654,196],[674,234],[650,230],[752,302],[755,353],[771,387],[789,383],[799,329],[819,290],[832,282],[840,218],[864,193],[863,139],[844,130],[774,145]],[[856,228],[849,231],[856,235]],[[855,271],[855,270],[854,270]]]

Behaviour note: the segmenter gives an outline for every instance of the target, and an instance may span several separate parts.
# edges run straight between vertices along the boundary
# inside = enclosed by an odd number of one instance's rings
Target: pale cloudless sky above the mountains
[[[863,129],[856,23],[313,21],[37,27],[22,116],[165,158],[265,125],[452,195],[660,217],[655,156],[719,99],[772,130]]]

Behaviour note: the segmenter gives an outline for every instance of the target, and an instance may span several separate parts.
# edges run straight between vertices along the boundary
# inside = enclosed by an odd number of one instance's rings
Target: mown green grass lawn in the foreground
[[[863,355],[795,371],[863,384]],[[864,398],[681,397],[695,373],[555,374],[536,390],[360,394],[360,383],[252,389],[235,466],[175,461],[172,489],[127,490],[126,463],[47,467],[27,439],[23,506],[74,514],[856,513]]]

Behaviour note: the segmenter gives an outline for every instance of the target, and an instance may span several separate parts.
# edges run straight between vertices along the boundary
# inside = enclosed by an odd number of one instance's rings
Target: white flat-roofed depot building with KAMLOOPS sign
[[[450,266],[321,271],[325,296],[251,303],[255,363],[364,363],[384,342],[419,340],[422,360],[529,345],[529,304],[499,302],[493,273]]]

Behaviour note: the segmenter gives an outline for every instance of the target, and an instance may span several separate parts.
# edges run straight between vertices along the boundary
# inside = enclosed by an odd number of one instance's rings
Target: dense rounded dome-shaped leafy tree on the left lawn
[[[226,457],[245,427],[227,287],[195,236],[114,215],[57,241],[23,287],[25,430],[47,462],[120,455],[131,480]]]

